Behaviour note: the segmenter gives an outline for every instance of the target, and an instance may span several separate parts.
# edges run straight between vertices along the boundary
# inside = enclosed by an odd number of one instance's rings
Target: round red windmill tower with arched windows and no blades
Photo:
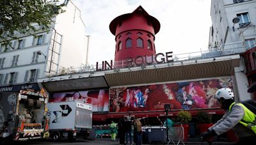
[[[125,62],[128,60],[132,60],[137,66],[145,62],[150,64],[145,56],[156,55],[154,40],[160,29],[156,18],[148,15],[147,11],[139,6],[132,13],[120,15],[112,20],[109,29],[116,40],[115,67],[127,66]],[[116,62],[123,65],[116,65]]]

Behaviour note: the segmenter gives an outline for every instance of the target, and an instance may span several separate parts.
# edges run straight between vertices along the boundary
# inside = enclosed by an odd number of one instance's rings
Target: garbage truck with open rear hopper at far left
[[[40,92],[0,92],[1,143],[49,137],[46,102]]]

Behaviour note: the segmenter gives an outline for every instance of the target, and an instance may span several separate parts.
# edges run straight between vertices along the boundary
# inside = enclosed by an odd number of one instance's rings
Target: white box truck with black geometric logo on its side
[[[75,141],[77,134],[92,129],[92,105],[77,100],[50,102],[47,104],[50,117],[49,132],[53,141],[68,138]]]

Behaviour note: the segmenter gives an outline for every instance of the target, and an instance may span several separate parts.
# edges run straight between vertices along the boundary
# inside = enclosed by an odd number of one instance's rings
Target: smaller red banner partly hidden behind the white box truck
[[[53,93],[49,98],[49,102],[65,102],[70,100],[79,100],[92,104],[93,112],[109,111],[109,91],[107,89]]]

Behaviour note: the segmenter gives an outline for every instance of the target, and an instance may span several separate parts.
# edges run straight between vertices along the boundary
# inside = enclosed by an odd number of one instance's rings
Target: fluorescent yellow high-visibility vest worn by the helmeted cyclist
[[[229,106],[229,111],[231,111],[232,106],[234,106],[236,102],[233,102]],[[256,114],[250,111],[247,107],[245,107],[242,103],[237,103],[239,106],[243,107],[244,109],[244,118],[243,120],[239,121],[244,127],[248,127],[256,134]]]

